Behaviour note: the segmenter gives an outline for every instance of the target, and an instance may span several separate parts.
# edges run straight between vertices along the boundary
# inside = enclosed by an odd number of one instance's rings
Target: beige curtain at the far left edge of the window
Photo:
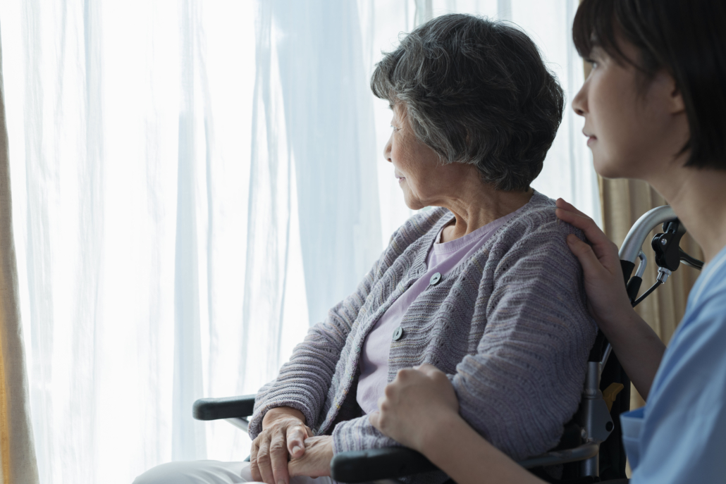
[[[4,99],[0,49],[0,484],[37,484],[12,237]]]

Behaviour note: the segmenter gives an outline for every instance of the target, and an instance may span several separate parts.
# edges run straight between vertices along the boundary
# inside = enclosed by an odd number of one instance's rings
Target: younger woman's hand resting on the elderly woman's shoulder
[[[555,213],[560,220],[581,229],[592,245],[573,234],[567,236],[567,245],[582,265],[590,314],[601,328],[624,321],[633,309],[623,282],[618,246],[592,218],[565,200],[557,200]]]

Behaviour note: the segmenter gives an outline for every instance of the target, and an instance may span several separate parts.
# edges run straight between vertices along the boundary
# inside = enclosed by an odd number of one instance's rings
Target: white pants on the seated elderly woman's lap
[[[249,462],[188,461],[168,462],[152,467],[134,484],[237,484],[252,479]],[[334,484],[330,477],[291,477],[290,484]]]

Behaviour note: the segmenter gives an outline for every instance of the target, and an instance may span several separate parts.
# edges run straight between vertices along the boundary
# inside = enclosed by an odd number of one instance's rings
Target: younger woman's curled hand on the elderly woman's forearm
[[[399,370],[384,393],[378,401],[378,411],[368,417],[370,423],[417,451],[423,451],[429,438],[436,438],[436,422],[459,413],[454,387],[446,374],[433,365]]]

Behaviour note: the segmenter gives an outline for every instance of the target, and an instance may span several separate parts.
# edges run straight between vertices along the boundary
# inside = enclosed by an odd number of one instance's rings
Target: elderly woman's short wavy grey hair
[[[529,189],[562,120],[564,94],[521,30],[471,15],[416,28],[378,62],[376,96],[403,104],[444,163],[476,165],[499,190]]]

